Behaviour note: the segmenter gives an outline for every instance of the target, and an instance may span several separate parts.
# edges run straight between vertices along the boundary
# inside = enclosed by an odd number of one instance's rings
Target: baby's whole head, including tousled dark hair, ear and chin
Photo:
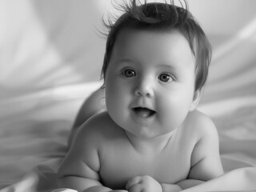
[[[210,43],[184,8],[134,0],[124,9],[106,42],[106,108],[122,129],[156,138],[182,126],[198,106]]]

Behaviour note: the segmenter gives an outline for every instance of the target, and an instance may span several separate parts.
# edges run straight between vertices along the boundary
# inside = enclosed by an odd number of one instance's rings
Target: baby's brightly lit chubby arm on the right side
[[[178,183],[182,189],[196,186],[223,174],[217,129],[206,115],[199,116],[200,118],[194,122],[194,131],[198,131],[199,138],[191,155],[190,174],[187,180]]]

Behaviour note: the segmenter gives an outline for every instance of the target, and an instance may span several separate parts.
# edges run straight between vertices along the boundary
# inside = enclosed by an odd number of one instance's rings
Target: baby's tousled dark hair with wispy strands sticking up
[[[155,31],[180,31],[190,44],[190,49],[196,58],[196,80],[195,90],[199,90],[206,82],[208,68],[211,60],[211,46],[198,22],[195,21],[190,11],[185,6],[175,6],[173,1],[170,3],[151,2],[138,5],[136,0],[120,5],[125,11],[116,22],[104,22],[109,28],[106,41],[106,53],[102,66],[102,78],[106,78],[107,66],[110,62],[114,42],[118,33],[124,29],[134,30],[155,30]]]

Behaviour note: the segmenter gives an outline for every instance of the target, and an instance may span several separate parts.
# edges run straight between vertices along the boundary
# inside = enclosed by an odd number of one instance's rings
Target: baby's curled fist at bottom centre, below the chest
[[[126,183],[129,192],[162,192],[162,186],[154,178],[145,175],[130,178]]]

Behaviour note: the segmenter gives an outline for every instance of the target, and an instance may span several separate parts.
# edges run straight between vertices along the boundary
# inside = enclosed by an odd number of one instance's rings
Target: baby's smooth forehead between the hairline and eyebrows
[[[138,62],[194,66],[194,54],[187,39],[178,30],[121,30],[117,36],[110,63],[122,59]]]

